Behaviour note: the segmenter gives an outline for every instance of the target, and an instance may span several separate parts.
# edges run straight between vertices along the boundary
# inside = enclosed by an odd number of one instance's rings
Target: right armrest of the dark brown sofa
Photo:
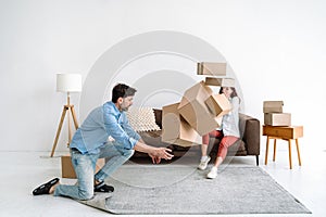
[[[261,148],[261,124],[260,120],[240,114],[240,123],[244,123],[242,140],[246,143],[247,154],[248,155],[260,155]]]

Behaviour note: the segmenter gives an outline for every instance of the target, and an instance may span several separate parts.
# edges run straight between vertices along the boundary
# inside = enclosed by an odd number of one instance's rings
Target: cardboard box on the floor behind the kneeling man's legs
[[[96,165],[96,173],[98,173],[105,165],[105,158],[99,158]],[[62,178],[76,179],[76,173],[72,163],[71,155],[61,156],[61,174]]]

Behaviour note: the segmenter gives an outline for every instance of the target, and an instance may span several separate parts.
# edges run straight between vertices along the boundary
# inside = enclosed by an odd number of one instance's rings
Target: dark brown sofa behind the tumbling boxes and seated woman
[[[162,110],[154,108],[155,123],[162,129]],[[235,156],[254,156],[255,163],[259,165],[259,155],[260,155],[260,138],[261,138],[261,125],[260,120],[244,115],[239,115],[239,128],[241,139],[236,142],[236,144],[231,145],[228,150],[228,155]],[[142,140],[150,145],[153,146],[168,146],[173,154],[175,155],[175,159],[181,157],[187,154],[187,156],[200,156],[200,145],[195,145],[191,148],[184,148],[175,144],[168,144],[162,142],[161,140],[161,130],[155,131],[146,131],[140,132]],[[215,138],[210,138],[210,155],[212,159],[215,158],[216,152],[218,150],[220,140]],[[139,158],[150,158],[147,154],[135,152],[131,161],[137,161]]]

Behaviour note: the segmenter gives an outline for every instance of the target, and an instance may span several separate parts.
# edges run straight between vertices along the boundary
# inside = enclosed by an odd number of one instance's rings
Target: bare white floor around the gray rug
[[[52,177],[61,176],[60,157],[58,157],[60,154],[62,153],[57,152],[57,157],[50,158],[48,157],[49,153],[46,152],[0,152],[0,217],[83,217],[110,215],[70,199],[51,195],[32,195],[32,190],[35,187]],[[319,151],[309,154],[302,152],[302,167],[298,166],[294,152],[292,155],[292,170],[289,169],[287,150],[277,151],[276,162],[272,161],[271,153],[268,165],[264,165],[264,154],[262,152],[260,166],[313,213],[312,215],[300,216],[326,216],[326,152]],[[255,161],[254,157],[248,156],[235,157],[233,164],[254,165]],[[62,182],[74,183],[74,180],[63,179]]]

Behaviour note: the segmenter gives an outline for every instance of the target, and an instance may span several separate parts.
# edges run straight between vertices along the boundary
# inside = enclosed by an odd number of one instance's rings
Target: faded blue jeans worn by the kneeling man
[[[55,188],[54,196],[68,196],[76,200],[89,200],[93,196],[95,179],[104,181],[113,171],[128,161],[134,150],[126,150],[121,145],[108,143],[100,148],[98,154],[80,154],[71,150],[72,163],[78,182],[75,186],[59,184]],[[105,165],[95,175],[98,158],[106,158]]]

